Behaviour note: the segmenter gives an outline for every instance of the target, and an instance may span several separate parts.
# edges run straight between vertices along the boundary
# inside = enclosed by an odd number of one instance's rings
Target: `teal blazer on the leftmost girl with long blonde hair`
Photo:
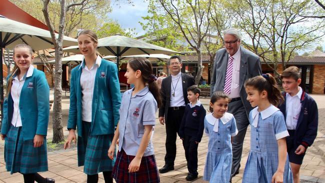
[[[32,75],[25,78],[19,97],[19,110],[24,140],[33,139],[35,134],[47,134],[49,87],[44,72],[34,68]],[[13,114],[11,94],[3,101],[3,114],[1,134],[7,134]]]

